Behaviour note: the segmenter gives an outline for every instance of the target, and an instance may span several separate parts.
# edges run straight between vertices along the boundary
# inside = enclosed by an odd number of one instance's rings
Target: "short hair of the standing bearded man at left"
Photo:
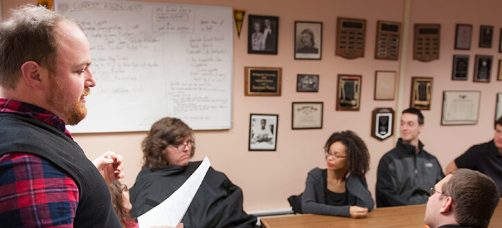
[[[10,11],[10,18],[0,23],[0,86],[15,88],[21,78],[21,66],[30,60],[55,73],[55,28],[60,21],[78,26],[72,19],[43,6],[26,5]]]

